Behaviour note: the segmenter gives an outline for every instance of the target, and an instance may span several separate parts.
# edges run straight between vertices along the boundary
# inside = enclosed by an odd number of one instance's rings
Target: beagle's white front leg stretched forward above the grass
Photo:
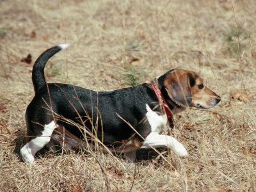
[[[180,157],[188,156],[186,148],[179,141],[175,140],[172,136],[157,134],[157,132],[150,132],[141,146],[141,148],[152,147],[168,147]]]

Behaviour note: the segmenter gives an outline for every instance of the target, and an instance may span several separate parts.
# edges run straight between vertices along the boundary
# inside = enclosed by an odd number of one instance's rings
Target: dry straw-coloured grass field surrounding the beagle
[[[0,191],[256,191],[255,20],[255,0],[0,1]],[[221,102],[175,116],[189,157],[128,164],[95,150],[22,163],[33,63],[63,43],[47,82],[108,91],[176,67],[200,74]]]

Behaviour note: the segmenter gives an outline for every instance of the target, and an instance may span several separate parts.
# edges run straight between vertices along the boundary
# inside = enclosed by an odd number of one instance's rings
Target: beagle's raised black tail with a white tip
[[[61,44],[50,49],[47,49],[43,52],[35,61],[33,70],[32,70],[32,82],[34,85],[35,92],[38,92],[42,86],[46,85],[45,76],[44,76],[44,67],[46,62],[51,58],[56,52],[61,51],[68,47],[69,44]]]

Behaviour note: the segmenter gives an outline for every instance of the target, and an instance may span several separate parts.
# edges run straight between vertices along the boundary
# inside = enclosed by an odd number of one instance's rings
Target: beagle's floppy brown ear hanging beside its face
[[[186,70],[175,70],[164,79],[164,88],[175,104],[188,107],[191,102],[191,75]]]

